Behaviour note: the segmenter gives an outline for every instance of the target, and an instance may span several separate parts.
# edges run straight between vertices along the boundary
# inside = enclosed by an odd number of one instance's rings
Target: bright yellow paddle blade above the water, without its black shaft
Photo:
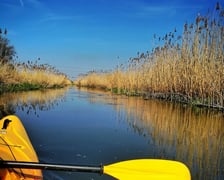
[[[104,166],[104,174],[120,180],[190,180],[188,168],[180,162],[158,159],[122,161]]]

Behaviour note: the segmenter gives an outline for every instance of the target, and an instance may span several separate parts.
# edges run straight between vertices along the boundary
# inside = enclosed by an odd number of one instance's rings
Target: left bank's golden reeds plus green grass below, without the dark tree
[[[1,62],[1,61],[0,61]],[[64,87],[71,81],[49,65],[1,63],[0,93]]]

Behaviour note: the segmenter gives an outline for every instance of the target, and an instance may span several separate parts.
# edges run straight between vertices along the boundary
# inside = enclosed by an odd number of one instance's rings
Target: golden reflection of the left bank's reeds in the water
[[[63,101],[68,88],[5,93],[0,96],[0,118],[15,114],[16,110],[25,111],[27,114],[49,110]]]

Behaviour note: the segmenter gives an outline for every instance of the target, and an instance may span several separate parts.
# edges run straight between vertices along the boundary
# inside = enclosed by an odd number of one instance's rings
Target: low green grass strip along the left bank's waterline
[[[43,84],[32,84],[32,83],[21,83],[21,84],[0,84],[0,95],[8,92],[20,92],[20,91],[34,91],[43,89],[58,89],[63,88],[66,85],[43,85]]]

